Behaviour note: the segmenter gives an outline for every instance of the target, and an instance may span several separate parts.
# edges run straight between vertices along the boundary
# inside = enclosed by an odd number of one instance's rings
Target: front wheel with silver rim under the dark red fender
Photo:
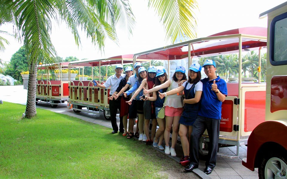
[[[265,152],[258,166],[259,179],[286,178],[287,176],[286,151]],[[272,171],[272,170],[273,171]],[[274,171],[275,169],[275,171]]]

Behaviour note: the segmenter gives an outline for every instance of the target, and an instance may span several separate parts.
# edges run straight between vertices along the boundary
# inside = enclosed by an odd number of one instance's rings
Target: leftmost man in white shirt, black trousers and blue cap
[[[110,76],[107,81],[101,85],[96,81],[96,86],[101,87],[101,88],[109,88],[111,87],[111,91],[109,93],[109,96],[112,96],[113,93],[115,93],[117,87],[120,84],[120,80],[123,79],[125,77],[124,74],[122,74],[123,72],[123,65],[117,65],[116,69],[115,69],[116,74]],[[109,101],[109,108],[110,108],[110,114],[111,114],[111,123],[112,123],[112,127],[113,127],[113,131],[112,134],[117,133],[117,131],[119,130],[118,126],[117,126],[117,109],[120,110],[120,100],[121,100],[121,96],[119,96],[116,100],[110,100]],[[123,129],[123,117],[120,117],[120,132],[124,132]]]

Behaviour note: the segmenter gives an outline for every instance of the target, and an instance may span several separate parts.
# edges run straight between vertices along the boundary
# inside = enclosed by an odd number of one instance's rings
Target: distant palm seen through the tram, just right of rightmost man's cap
[[[231,74],[236,75],[238,73],[238,67],[237,60],[238,55],[237,54],[227,54],[227,55],[220,55],[214,57],[214,60],[216,62],[216,71],[217,73],[226,75],[226,78],[228,78]]]

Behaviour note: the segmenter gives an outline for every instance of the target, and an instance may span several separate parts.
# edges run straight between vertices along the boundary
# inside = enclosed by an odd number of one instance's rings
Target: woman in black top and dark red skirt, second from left
[[[117,87],[114,94],[117,94],[118,92],[120,92],[120,90],[126,85],[129,77],[132,76],[132,67],[127,66],[125,68],[125,73],[126,73],[126,77],[120,80],[120,84]],[[129,90],[129,87],[125,91],[128,91],[128,90]],[[114,94],[109,97],[110,100],[113,100]],[[129,133],[132,133],[133,135],[134,133],[133,125],[132,127],[129,126],[129,129],[127,129],[129,105],[126,103],[126,101],[129,101],[129,97],[122,97],[120,101],[120,117],[123,117],[123,128],[124,128],[123,136],[126,136],[127,134],[129,135]]]

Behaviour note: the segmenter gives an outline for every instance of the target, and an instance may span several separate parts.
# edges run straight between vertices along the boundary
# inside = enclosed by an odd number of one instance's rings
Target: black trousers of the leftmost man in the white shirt
[[[120,111],[120,100],[121,96],[117,98],[117,100],[113,99],[109,101],[109,108],[111,114],[111,123],[114,131],[118,131],[119,128],[117,126],[117,109]],[[123,129],[123,117],[120,117],[120,131],[124,131]]]

